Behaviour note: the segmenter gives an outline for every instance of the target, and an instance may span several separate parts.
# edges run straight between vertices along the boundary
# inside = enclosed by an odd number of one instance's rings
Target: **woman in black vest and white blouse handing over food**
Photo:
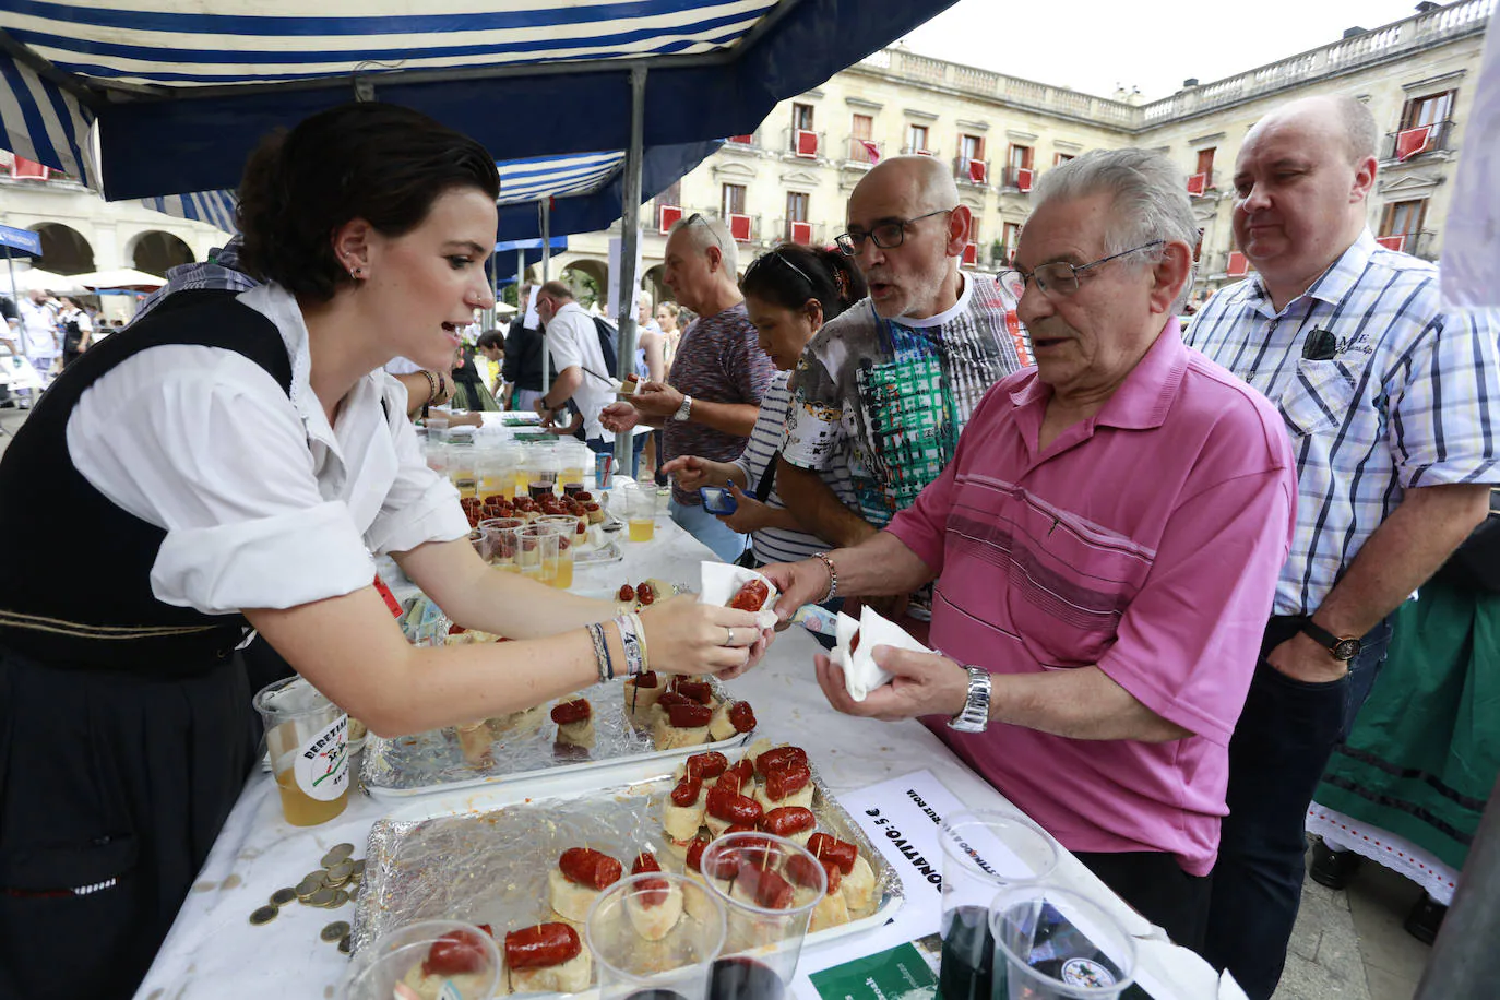
[[[378,735],[504,715],[651,660],[742,670],[754,616],[639,616],[489,568],[428,469],[408,357],[447,370],[490,304],[494,157],[416,111],[320,112],[252,154],[243,294],[184,291],[84,352],[0,460],[0,994],[128,997],[252,763],[258,630]],[[459,625],[416,648],[390,553]],[[627,642],[634,634],[636,642]]]

